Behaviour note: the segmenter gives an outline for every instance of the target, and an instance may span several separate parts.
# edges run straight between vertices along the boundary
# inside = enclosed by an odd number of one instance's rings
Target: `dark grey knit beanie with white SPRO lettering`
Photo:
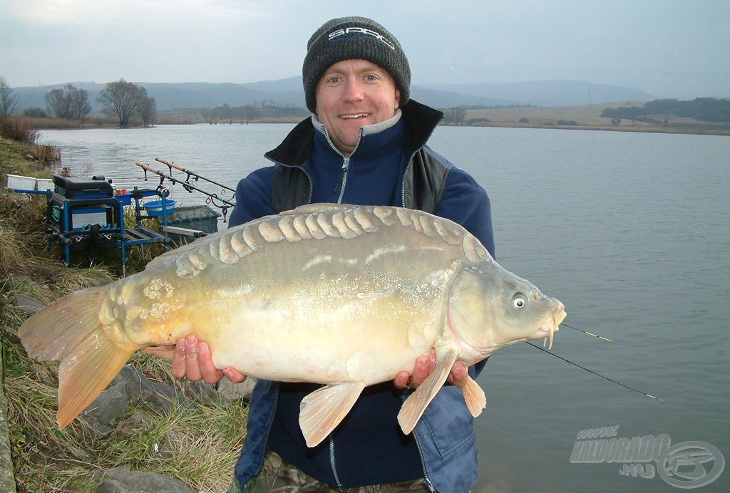
[[[355,58],[371,61],[388,71],[401,93],[400,106],[408,102],[410,66],[395,36],[374,20],[343,17],[328,20],[307,42],[301,79],[310,112],[317,112],[315,93],[325,71],[334,63]]]

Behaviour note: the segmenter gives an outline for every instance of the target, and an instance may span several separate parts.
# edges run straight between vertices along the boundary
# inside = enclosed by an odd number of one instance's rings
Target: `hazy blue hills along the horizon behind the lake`
[[[88,92],[93,112],[105,84],[71,82]],[[185,108],[228,106],[283,106],[304,108],[301,77],[250,82],[247,84],[214,84],[211,82],[150,83],[134,82],[155,98],[158,111]],[[13,88],[18,111],[31,107],[45,108],[45,95],[64,85]],[[454,106],[580,106],[615,101],[651,101],[648,93],[634,88],[621,88],[590,82],[551,80],[511,82],[507,84],[413,85],[411,96],[436,108]]]

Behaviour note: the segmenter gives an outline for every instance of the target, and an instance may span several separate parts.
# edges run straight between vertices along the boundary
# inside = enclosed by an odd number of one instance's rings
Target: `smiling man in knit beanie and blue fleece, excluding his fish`
[[[391,33],[366,18],[330,20],[308,42],[302,76],[312,117],[266,153],[274,166],[239,182],[231,226],[304,203],[404,206],[458,222],[493,254],[489,199],[471,176],[426,147],[443,115],[410,100],[410,68]],[[314,448],[304,443],[298,416],[302,397],[318,386],[258,381],[230,491],[274,491],[280,484],[299,491],[468,490],[478,474],[472,416],[458,388],[467,375],[461,363],[412,434],[396,421],[432,357],[419,358],[412,375],[403,371],[368,387]],[[469,368],[472,377],[483,364]],[[173,373],[209,383],[223,375],[245,379],[234,368],[213,367],[210,350],[194,335],[178,341]]]

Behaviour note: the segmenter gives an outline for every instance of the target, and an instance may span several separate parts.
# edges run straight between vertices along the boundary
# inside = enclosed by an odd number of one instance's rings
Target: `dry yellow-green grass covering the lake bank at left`
[[[34,152],[32,144],[0,138],[0,173],[50,176]],[[91,493],[112,467],[179,478],[199,491],[225,492],[245,436],[247,405],[241,401],[193,408],[173,405],[167,412],[140,401],[131,403],[109,435],[92,432],[83,419],[58,430],[58,364],[26,355],[18,339],[26,315],[16,308],[15,297],[50,303],[74,290],[117,279],[120,265],[119,252],[110,249],[96,259],[77,252],[77,266],[64,266],[57,246],[46,249],[45,211],[44,196],[24,198],[0,187],[2,384],[18,492]],[[132,220],[126,217],[126,222]],[[147,257],[131,249],[131,271],[143,268],[158,253],[150,247],[161,245],[147,246]],[[138,353],[131,364],[149,379],[180,388],[166,360]]]

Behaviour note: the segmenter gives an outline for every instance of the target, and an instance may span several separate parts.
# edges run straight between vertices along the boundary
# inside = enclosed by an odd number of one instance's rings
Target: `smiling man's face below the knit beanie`
[[[317,83],[317,116],[330,139],[345,156],[358,142],[365,125],[393,117],[401,93],[391,74],[366,60],[345,60],[325,71]]]

